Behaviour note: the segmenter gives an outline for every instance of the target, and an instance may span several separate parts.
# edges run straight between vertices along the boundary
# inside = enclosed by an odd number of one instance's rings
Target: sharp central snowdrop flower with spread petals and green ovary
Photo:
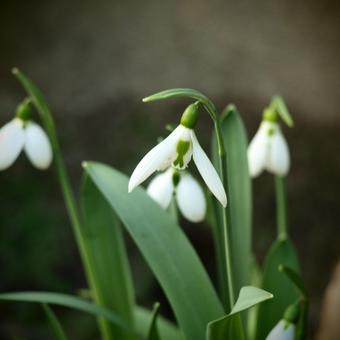
[[[198,119],[198,105],[198,103],[189,105],[177,128],[151,149],[139,162],[130,177],[129,192],[144,182],[156,170],[165,170],[170,166],[183,170],[193,158],[210,191],[224,207],[227,205],[227,196],[223,184],[193,130]]]

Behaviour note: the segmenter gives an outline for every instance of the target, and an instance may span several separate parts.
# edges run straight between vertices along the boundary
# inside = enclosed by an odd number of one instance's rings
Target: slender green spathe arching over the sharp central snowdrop
[[[143,99],[143,102],[153,102],[156,100],[163,100],[168,98],[175,98],[175,97],[188,97],[192,99],[196,99],[201,102],[209,114],[214,117],[216,115],[216,108],[214,103],[203,93],[194,90],[194,89],[187,89],[187,88],[176,88],[176,89],[169,89],[165,91],[161,91],[151,96],[148,96]]]

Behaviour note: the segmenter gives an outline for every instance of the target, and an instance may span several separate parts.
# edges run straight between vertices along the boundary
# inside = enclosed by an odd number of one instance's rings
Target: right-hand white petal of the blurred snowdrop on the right
[[[269,137],[270,147],[266,168],[275,175],[286,176],[290,167],[289,148],[280,127]]]

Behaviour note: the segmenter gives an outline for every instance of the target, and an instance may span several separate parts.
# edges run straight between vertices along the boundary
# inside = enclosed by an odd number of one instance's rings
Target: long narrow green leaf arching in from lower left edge
[[[116,315],[111,310],[98,306],[92,302],[84,300],[82,298],[50,292],[18,292],[18,293],[2,293],[0,294],[0,301],[17,301],[17,302],[35,302],[35,303],[48,303],[53,305],[59,305],[64,307],[70,307],[83,312],[92,314],[95,317],[102,317],[113,324],[125,329],[128,332],[133,332],[131,327]]]

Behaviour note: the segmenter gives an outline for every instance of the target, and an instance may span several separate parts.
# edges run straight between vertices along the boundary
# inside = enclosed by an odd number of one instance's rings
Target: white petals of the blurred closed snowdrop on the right
[[[250,176],[256,177],[263,170],[275,175],[287,175],[290,155],[287,142],[277,123],[263,121],[248,148]]]

